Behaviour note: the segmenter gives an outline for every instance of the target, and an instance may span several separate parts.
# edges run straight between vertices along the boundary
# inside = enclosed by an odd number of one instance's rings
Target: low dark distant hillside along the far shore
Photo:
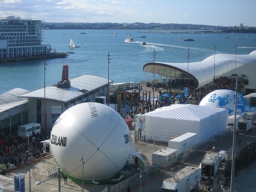
[[[160,23],[83,23],[83,22],[42,22],[44,29],[138,29],[138,30],[201,30],[201,31],[222,31],[223,33],[256,33],[256,28],[225,26],[208,26],[198,24],[160,24]]]

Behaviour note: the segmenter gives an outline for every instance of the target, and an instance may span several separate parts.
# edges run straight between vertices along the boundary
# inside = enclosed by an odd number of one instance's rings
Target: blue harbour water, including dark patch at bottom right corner
[[[156,62],[187,63],[202,61],[214,52],[249,54],[256,47],[256,34],[170,32],[45,30],[43,44],[51,44],[57,52],[70,51],[68,48],[70,38],[73,38],[74,44],[79,45],[79,48],[72,49],[75,53],[69,54],[68,58],[1,63],[0,94],[13,88],[33,91],[44,87],[44,63],[46,86],[61,80],[62,66],[66,63],[69,65],[70,79],[84,74],[108,78],[109,73],[109,79],[115,83],[127,81],[140,83],[153,79],[152,74],[143,72],[143,65],[154,61],[154,51],[156,51]],[[141,38],[143,35],[146,38]],[[134,42],[125,43],[125,38],[129,36]],[[184,41],[187,38],[193,38],[195,41]],[[146,45],[141,45],[141,42],[146,42]],[[108,60],[108,54],[111,60]],[[236,191],[255,191],[256,182],[252,182],[255,180],[255,172],[255,161],[239,170],[235,179]]]

